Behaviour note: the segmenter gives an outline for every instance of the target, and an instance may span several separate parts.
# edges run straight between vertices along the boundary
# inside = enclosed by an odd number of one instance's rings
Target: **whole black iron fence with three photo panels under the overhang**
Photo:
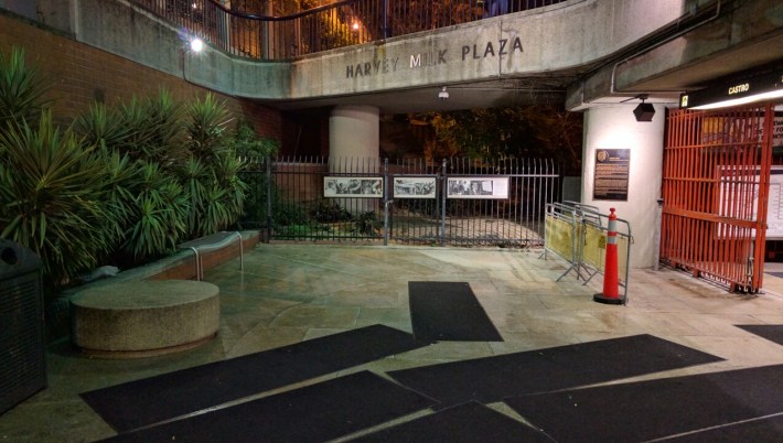
[[[243,228],[271,240],[538,247],[559,201],[549,160],[250,161]]]

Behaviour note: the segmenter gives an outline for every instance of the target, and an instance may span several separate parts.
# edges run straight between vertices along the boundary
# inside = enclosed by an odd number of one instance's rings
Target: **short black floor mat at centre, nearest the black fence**
[[[411,281],[408,295],[418,339],[503,342],[468,283]]]

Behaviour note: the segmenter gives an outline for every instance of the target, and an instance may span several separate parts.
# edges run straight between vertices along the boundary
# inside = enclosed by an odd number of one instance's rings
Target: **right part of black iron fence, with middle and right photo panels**
[[[389,166],[388,239],[397,244],[538,247],[559,196],[548,160],[450,159]]]

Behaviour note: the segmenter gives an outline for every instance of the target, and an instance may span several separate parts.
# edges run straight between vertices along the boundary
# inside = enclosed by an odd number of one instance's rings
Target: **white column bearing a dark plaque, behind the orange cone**
[[[616,208],[619,218],[631,224],[631,268],[650,268],[655,260],[657,198],[661,196],[665,109],[655,106],[652,121],[639,122],[633,109],[639,105],[603,105],[584,112],[584,149],[582,158],[583,204],[598,206],[609,214]],[[593,198],[596,151],[629,149],[631,154],[628,201]]]

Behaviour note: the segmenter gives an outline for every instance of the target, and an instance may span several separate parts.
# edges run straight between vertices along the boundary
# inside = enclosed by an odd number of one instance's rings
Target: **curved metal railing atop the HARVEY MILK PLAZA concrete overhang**
[[[264,17],[215,0],[131,0],[228,54],[258,60],[287,60],[562,1],[341,0],[291,15]]]

